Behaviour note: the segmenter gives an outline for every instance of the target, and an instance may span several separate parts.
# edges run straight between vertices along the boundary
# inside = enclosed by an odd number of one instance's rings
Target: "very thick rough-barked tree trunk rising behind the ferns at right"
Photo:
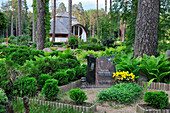
[[[138,0],[134,57],[157,56],[160,0]]]

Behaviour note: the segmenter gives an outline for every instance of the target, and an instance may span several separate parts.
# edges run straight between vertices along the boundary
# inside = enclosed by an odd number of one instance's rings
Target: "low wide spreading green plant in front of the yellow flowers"
[[[115,101],[130,104],[141,98],[143,88],[133,83],[120,83],[98,93],[97,98],[103,101]]]

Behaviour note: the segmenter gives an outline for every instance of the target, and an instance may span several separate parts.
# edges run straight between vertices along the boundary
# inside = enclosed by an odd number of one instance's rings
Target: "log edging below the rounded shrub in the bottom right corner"
[[[136,105],[136,113],[170,113],[169,109],[144,109],[139,104]]]

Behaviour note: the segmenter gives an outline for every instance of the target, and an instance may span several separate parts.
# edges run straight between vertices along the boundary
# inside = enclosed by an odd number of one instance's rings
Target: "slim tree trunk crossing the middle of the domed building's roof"
[[[69,23],[68,23],[68,38],[71,36],[71,31],[72,31],[72,0],[68,0],[68,7],[69,7]]]

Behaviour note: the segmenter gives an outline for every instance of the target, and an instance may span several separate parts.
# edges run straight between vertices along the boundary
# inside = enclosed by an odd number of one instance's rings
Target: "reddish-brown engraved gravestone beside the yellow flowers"
[[[115,65],[107,58],[96,58],[96,86],[113,85],[113,72],[116,72]]]

